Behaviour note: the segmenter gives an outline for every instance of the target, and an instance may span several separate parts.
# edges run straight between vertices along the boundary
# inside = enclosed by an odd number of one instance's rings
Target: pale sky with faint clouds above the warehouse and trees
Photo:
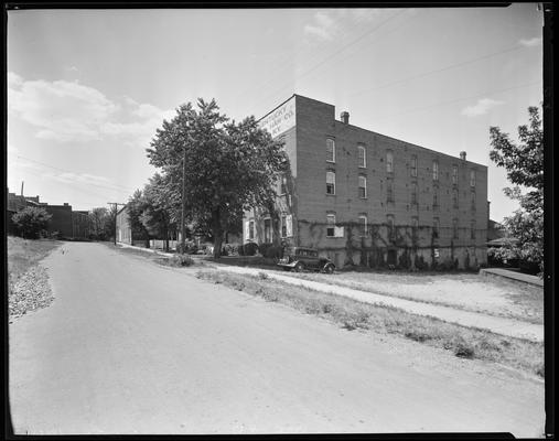
[[[542,101],[542,12],[507,8],[8,12],[8,182],[74,209],[126,203],[146,149],[197,98],[261,118],[292,94],[352,125],[488,166],[491,218],[517,207],[488,159]]]

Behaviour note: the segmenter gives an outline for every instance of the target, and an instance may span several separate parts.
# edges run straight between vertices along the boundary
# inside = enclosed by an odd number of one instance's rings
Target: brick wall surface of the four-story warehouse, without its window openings
[[[396,259],[426,261],[456,260],[486,262],[487,240],[487,168],[461,158],[375,133],[335,119],[335,108],[321,101],[295,96],[297,126],[284,135],[291,160],[290,196],[279,196],[278,212],[293,214],[293,245],[319,248],[336,260],[370,265],[388,250]],[[293,133],[294,132],[294,133]],[[335,142],[335,161],[326,160],[326,139]],[[366,151],[366,164],[358,163],[358,146]],[[393,155],[393,171],[387,171],[387,152]],[[294,157],[294,159],[292,159]],[[417,158],[417,176],[412,176],[412,158]],[[433,180],[433,161],[438,179]],[[453,182],[453,168],[456,181]],[[335,172],[335,194],[326,194],[326,172]],[[470,173],[475,172],[475,186]],[[366,197],[358,193],[359,175],[366,179]],[[417,204],[412,189],[417,185]],[[393,202],[388,201],[391,186]],[[433,193],[437,192],[437,205]],[[453,203],[458,193],[458,204]],[[472,206],[472,195],[474,203]],[[456,205],[456,206],[455,206]],[[343,237],[326,237],[326,214],[335,214]],[[261,241],[261,217],[256,223],[256,241]],[[359,216],[366,216],[367,234],[359,234]],[[395,236],[388,236],[387,219],[395,224]],[[417,219],[418,227],[413,227]],[[438,237],[433,224],[438,219]],[[275,220],[277,224],[277,219]],[[456,223],[458,235],[454,235]],[[472,238],[471,229],[475,229]],[[245,238],[246,241],[246,238]],[[408,250],[409,248],[409,250]],[[402,257],[402,252],[407,255]],[[394,258],[394,255],[390,255]],[[357,261],[356,261],[357,260]]]

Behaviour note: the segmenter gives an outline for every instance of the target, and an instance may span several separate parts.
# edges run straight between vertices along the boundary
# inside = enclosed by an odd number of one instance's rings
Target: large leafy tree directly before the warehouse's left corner
[[[273,198],[287,155],[254,117],[230,121],[214,99],[198,99],[196,107],[183,105],[163,121],[147,151],[150,163],[172,176],[175,194],[184,183],[189,219],[212,233],[217,258],[225,234],[238,233],[244,211]]]

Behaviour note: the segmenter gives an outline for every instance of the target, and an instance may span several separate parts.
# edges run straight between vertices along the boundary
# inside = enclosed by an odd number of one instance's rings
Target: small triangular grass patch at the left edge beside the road
[[[41,259],[61,245],[62,241],[58,240],[31,240],[17,236],[8,236],[9,281],[15,283],[22,275],[35,267]]]

